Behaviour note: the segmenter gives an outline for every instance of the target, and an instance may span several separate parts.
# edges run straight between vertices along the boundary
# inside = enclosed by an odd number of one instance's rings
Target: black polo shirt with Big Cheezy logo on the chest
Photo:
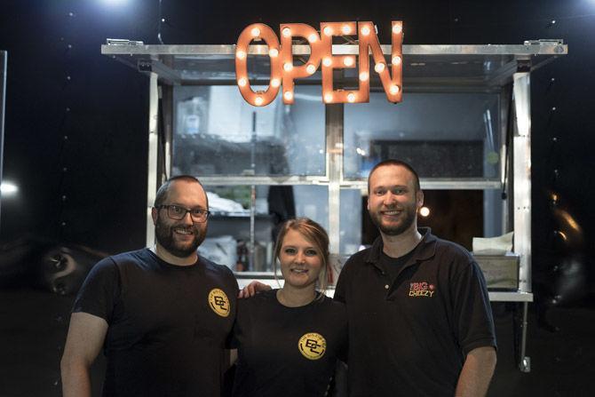
[[[347,260],[335,298],[349,320],[350,396],[453,396],[464,358],[496,347],[486,282],[471,254],[421,228],[396,279],[378,237]]]

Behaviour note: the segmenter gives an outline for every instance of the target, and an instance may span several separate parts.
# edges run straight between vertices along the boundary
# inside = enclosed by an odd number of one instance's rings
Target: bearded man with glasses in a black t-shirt
[[[237,282],[196,252],[209,202],[191,176],[169,179],[152,209],[155,247],[101,260],[75,299],[61,361],[64,396],[91,396],[107,356],[104,396],[219,396]]]

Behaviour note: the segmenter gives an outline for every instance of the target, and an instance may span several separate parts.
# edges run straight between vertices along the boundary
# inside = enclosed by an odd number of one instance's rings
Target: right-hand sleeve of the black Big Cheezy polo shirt
[[[455,333],[464,354],[482,346],[496,347],[496,332],[488,288],[474,261],[456,274],[453,284]]]

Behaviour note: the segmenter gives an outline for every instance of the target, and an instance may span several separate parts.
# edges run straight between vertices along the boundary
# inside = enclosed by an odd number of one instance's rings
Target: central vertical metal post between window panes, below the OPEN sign
[[[326,105],[327,175],[329,177],[329,250],[339,253],[341,215],[341,179],[343,176],[343,112],[344,105]]]

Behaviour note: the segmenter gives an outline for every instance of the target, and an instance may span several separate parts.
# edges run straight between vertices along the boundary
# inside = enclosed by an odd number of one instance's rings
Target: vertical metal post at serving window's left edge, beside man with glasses
[[[155,244],[155,227],[151,209],[157,193],[157,169],[159,150],[159,86],[158,75],[151,72],[149,81],[149,123],[148,123],[148,162],[147,162],[147,247]]]

